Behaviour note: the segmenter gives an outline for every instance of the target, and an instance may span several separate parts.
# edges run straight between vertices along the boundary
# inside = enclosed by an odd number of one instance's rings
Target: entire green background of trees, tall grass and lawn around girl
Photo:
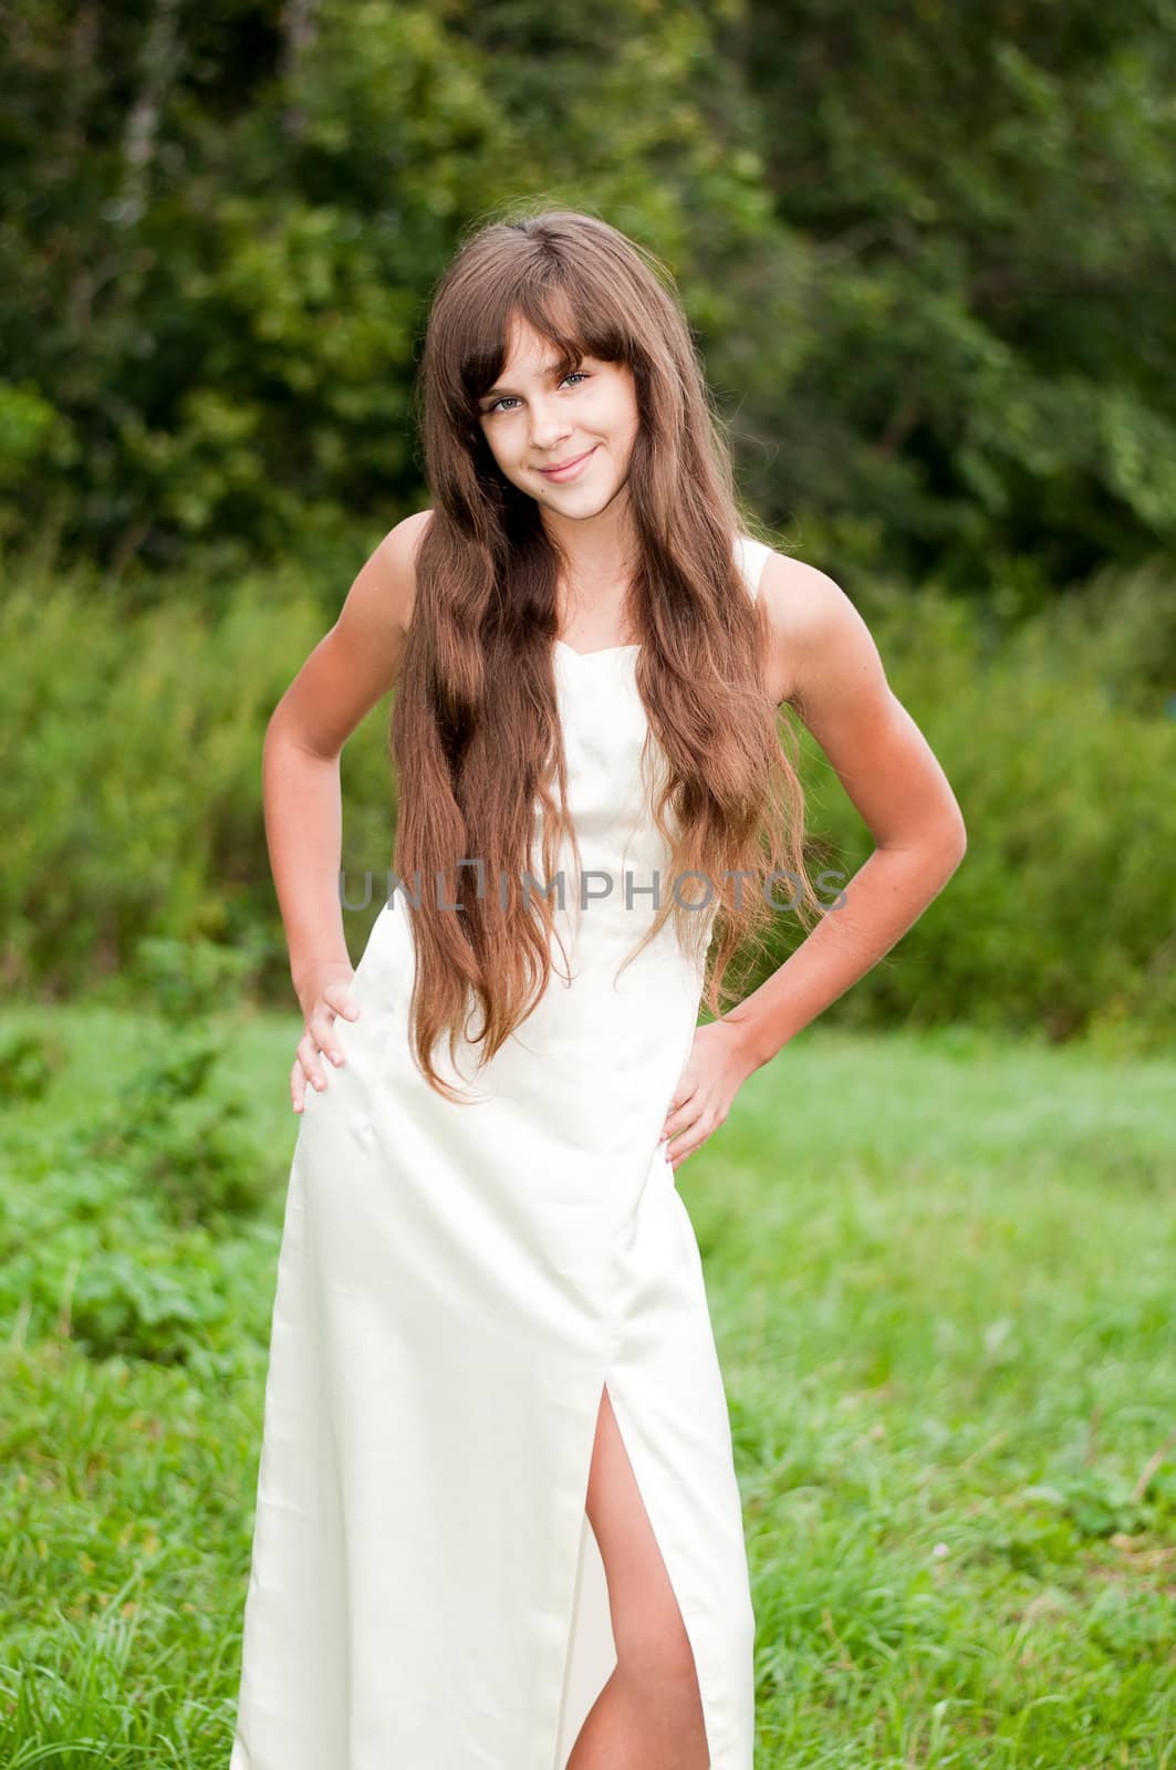
[[[673,273],[969,828],[680,1174],[756,1766],[1172,1770],[1176,0],[4,23],[0,1761],[227,1763],[301,1027],[260,745],[429,501],[430,290],[522,200]],[[808,738],[804,784],[852,871]]]

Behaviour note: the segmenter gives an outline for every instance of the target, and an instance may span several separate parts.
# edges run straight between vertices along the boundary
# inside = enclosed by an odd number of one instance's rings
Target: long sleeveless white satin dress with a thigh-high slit
[[[769,549],[735,543],[754,596]],[[563,1770],[616,1664],[584,1512],[602,1388],[694,1651],[712,1770],[751,1770],[754,1614],[694,1230],[659,1147],[703,988],[654,919],[636,646],[554,646],[590,897],[491,1066],[407,1041],[402,896],[306,1090],[273,1306],[230,1770]],[[650,745],[661,754],[652,733]],[[625,876],[632,890],[625,901]],[[700,881],[682,885],[698,897]],[[714,915],[714,908],[708,912]],[[459,1046],[459,1057],[462,1048]]]

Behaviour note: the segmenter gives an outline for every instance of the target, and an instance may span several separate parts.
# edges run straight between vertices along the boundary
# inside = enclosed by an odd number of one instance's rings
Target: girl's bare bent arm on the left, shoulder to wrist
[[[398,676],[416,547],[429,515],[425,510],[406,517],[367,559],[335,627],[310,653],[266,729],[266,841],[290,981],[306,1018],[328,981],[351,977],[338,903],[338,758],[351,733]],[[299,1057],[301,1051],[299,1046]],[[317,1048],[313,1066],[321,1067]]]

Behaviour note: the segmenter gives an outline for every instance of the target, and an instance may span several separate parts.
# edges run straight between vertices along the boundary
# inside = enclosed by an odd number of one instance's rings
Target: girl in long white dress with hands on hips
[[[266,738],[305,1032],[230,1770],[751,1770],[675,1175],[910,927],[963,823],[850,600],[746,533],[629,239],[569,211],[475,232],[418,388],[432,506]],[[352,975],[338,756],[393,685],[395,855]],[[832,901],[783,703],[877,839]],[[793,906],[808,938],[723,1014],[731,952]]]

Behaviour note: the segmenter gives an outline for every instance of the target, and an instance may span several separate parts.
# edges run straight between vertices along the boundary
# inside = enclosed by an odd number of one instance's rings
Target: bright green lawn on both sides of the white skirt
[[[12,1770],[227,1770],[298,1028],[213,1034],[149,1122],[166,1021],[0,1027]],[[1176,1062],[816,1025],[678,1168],[756,1770],[1176,1766],[1174,1099]]]

